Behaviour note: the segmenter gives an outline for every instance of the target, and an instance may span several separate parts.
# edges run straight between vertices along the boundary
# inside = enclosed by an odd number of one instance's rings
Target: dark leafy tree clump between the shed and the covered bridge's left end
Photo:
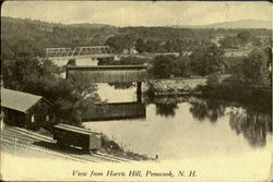
[[[5,60],[2,65],[4,87],[40,95],[55,105],[55,122],[80,125],[84,106],[98,101],[96,87],[87,78],[59,77],[60,68],[50,60],[34,58]]]

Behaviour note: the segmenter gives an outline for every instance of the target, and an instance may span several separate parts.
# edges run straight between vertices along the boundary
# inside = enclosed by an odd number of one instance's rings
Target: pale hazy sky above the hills
[[[115,26],[206,25],[245,19],[272,21],[266,1],[5,1],[2,16]]]

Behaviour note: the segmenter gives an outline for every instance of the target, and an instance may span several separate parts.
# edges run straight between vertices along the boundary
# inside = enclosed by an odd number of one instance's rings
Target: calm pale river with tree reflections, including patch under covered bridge
[[[136,100],[135,87],[100,84],[98,94],[109,102]],[[271,154],[271,112],[194,97],[143,102],[144,118],[85,122],[84,126],[103,132],[127,150],[157,155],[161,160]]]

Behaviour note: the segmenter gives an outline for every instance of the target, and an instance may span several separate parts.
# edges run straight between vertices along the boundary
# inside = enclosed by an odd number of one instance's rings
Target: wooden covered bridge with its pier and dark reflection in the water
[[[90,83],[136,83],[136,102],[96,104],[83,110],[83,121],[145,118],[141,102],[141,83],[146,80],[146,65],[67,66],[67,78]]]

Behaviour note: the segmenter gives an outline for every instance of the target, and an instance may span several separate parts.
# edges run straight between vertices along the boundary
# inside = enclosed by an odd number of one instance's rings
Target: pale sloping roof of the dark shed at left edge
[[[1,88],[1,107],[26,112],[41,96]]]

